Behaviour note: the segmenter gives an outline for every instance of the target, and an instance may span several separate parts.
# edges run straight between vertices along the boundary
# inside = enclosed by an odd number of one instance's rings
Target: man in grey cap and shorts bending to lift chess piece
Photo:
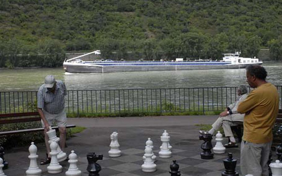
[[[53,125],[56,121],[60,132],[60,147],[62,150],[65,148],[66,142],[66,125],[67,116],[64,111],[64,96],[67,95],[66,86],[62,81],[55,80],[53,75],[47,75],[45,77],[45,84],[40,86],[37,93],[37,109],[41,117],[41,123],[44,128],[45,144],[47,148],[47,157],[44,161],[41,161],[41,165],[49,164],[50,158],[50,146],[48,143],[49,126]]]

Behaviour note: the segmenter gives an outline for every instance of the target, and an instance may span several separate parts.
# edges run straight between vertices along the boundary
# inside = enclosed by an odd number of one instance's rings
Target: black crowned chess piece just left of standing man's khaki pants
[[[235,170],[236,163],[237,160],[232,158],[232,153],[228,153],[228,158],[223,160],[225,171],[221,173],[221,176],[239,176],[239,173]]]

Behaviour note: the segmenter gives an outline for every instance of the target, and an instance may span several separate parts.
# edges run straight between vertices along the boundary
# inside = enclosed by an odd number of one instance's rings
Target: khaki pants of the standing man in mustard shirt
[[[252,174],[253,176],[268,176],[267,161],[271,144],[272,141],[256,144],[242,140],[240,153],[242,175]]]

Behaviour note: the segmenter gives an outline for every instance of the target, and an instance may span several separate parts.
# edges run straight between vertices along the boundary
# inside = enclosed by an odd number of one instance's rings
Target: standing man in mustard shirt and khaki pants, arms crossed
[[[268,176],[267,161],[272,144],[272,127],[279,109],[277,89],[265,79],[266,70],[249,65],[247,81],[254,88],[239,104],[237,111],[245,113],[244,134],[241,143],[242,175]]]

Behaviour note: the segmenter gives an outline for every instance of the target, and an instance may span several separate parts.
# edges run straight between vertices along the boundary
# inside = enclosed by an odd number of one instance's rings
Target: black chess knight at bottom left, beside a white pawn
[[[89,172],[88,176],[100,176],[99,172],[101,171],[101,166],[96,163],[98,160],[103,160],[103,155],[95,154],[94,152],[89,152],[87,154],[87,171]]]

